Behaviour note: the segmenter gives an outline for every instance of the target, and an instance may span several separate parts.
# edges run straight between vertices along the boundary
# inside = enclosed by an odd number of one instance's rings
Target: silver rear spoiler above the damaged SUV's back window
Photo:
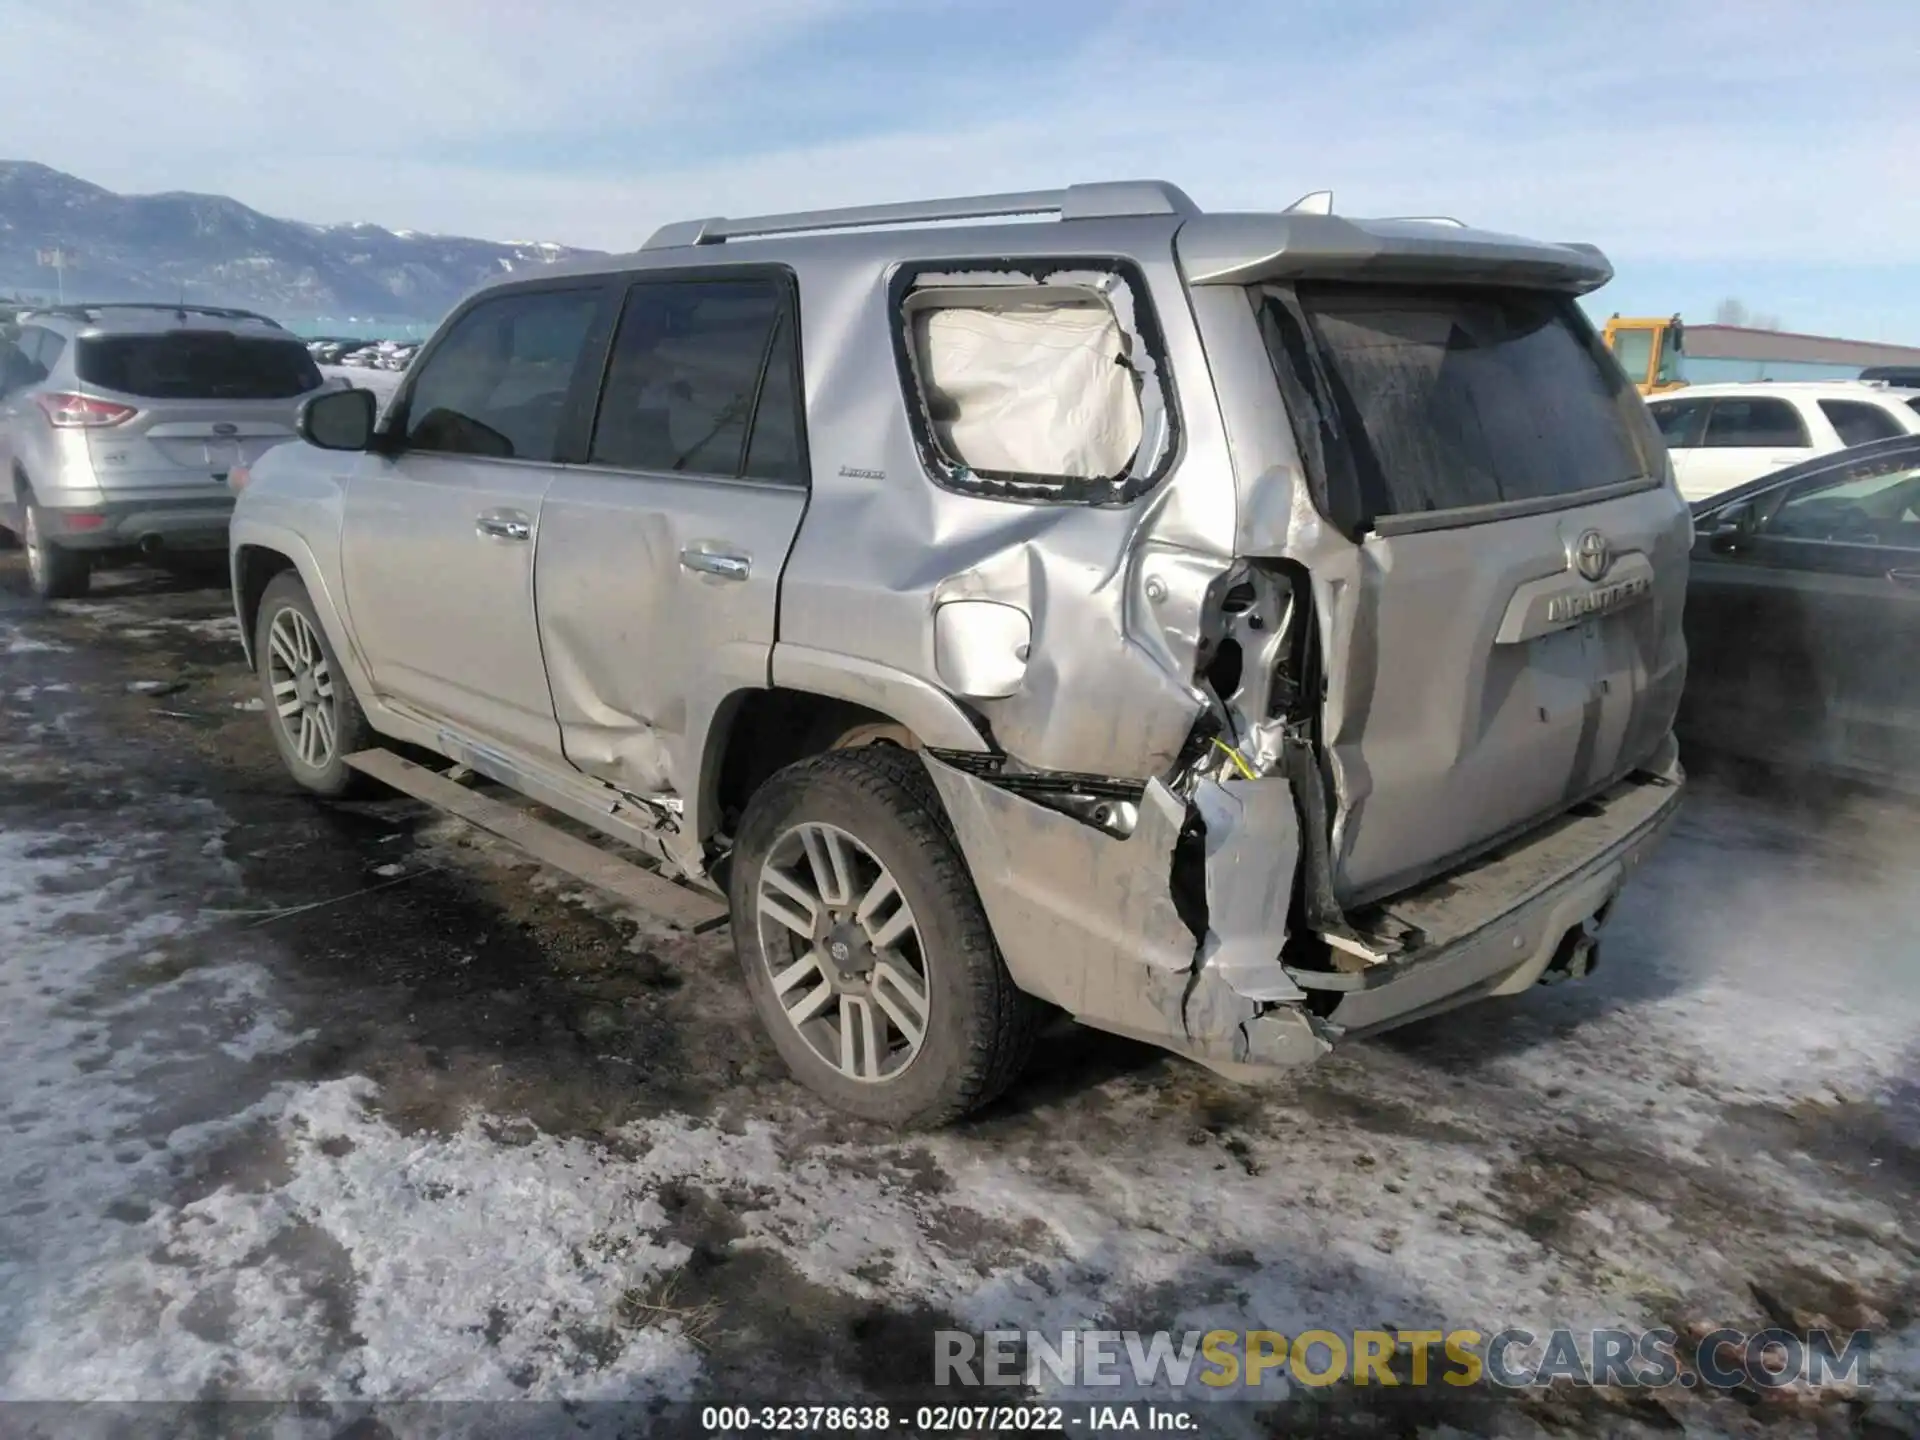
[[[1188,284],[1455,280],[1584,296],[1613,278],[1597,246],[1523,240],[1457,221],[1194,215],[1173,250]]]

